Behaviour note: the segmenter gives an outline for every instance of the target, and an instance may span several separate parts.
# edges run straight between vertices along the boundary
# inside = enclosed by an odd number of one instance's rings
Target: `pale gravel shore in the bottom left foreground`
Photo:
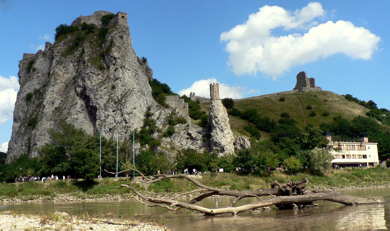
[[[152,223],[118,221],[99,217],[50,213],[45,215],[18,214],[5,211],[0,214],[1,230],[98,230],[98,231],[169,231],[165,226]]]

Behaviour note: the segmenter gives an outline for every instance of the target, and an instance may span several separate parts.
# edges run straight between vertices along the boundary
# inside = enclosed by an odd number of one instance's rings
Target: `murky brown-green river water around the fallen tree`
[[[390,201],[390,188],[356,189],[340,191],[362,197],[376,197]],[[199,205],[215,208],[228,205],[232,197],[219,196],[203,200]],[[254,198],[242,200],[252,202]],[[304,210],[257,210],[232,216],[230,214],[204,216],[200,213],[176,214],[160,207],[145,207],[135,200],[74,201],[74,202],[25,202],[0,203],[0,211],[22,210],[26,212],[67,212],[72,214],[108,213],[122,215],[132,210],[136,213],[163,216],[166,226],[173,231],[261,231],[261,230],[387,230],[390,229],[390,204],[345,206],[338,203],[316,201],[319,206]]]

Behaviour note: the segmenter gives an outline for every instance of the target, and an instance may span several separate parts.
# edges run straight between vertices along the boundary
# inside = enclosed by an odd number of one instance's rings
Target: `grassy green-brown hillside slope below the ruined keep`
[[[284,99],[284,100],[283,100]],[[282,101],[283,100],[283,101]],[[209,110],[208,103],[202,103],[203,110]],[[277,93],[235,100],[234,107],[241,112],[255,109],[262,116],[268,116],[275,121],[280,115],[287,112],[291,119],[298,123],[298,128],[305,128],[308,124],[319,126],[322,122],[330,123],[333,117],[341,115],[351,120],[358,115],[366,116],[369,109],[358,103],[346,100],[344,96],[330,91],[309,91],[296,93]],[[310,109],[312,108],[312,109]],[[236,136],[249,137],[250,134],[243,128],[248,122],[238,116],[229,115],[230,127]],[[268,138],[269,133],[261,131],[262,138]]]

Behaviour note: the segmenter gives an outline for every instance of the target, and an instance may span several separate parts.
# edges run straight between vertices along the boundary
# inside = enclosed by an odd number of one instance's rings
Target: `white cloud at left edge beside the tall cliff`
[[[12,119],[18,89],[16,76],[5,78],[0,75],[0,124]]]

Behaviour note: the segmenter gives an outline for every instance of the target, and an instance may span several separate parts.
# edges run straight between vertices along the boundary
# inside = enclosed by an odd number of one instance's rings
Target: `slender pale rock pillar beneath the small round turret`
[[[219,149],[222,155],[234,153],[234,135],[230,129],[226,108],[219,98],[211,98],[209,127],[211,150]]]

